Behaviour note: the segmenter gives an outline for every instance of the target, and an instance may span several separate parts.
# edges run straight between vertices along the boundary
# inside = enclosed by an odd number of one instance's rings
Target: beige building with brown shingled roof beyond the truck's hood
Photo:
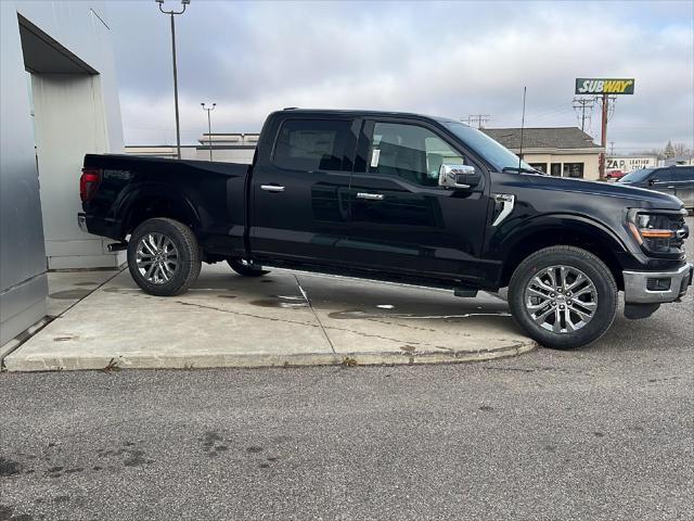
[[[483,128],[481,131],[520,154],[519,128]],[[577,127],[523,129],[523,160],[552,176],[597,179],[603,151]]]

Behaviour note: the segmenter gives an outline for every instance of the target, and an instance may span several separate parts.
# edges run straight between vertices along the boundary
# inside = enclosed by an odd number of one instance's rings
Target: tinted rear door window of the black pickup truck
[[[291,170],[339,170],[351,122],[287,119],[274,147],[273,162]]]

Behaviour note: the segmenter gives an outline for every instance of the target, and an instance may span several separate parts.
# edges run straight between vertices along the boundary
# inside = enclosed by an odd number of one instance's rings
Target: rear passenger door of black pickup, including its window
[[[253,255],[343,263],[357,143],[352,118],[278,117],[267,131],[274,141],[258,154],[250,186]]]

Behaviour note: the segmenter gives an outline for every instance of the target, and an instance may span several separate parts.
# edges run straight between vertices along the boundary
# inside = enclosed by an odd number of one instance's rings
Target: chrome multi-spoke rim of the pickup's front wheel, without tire
[[[525,307],[530,320],[553,333],[584,328],[597,310],[597,290],[583,271],[573,266],[550,266],[526,284]]]

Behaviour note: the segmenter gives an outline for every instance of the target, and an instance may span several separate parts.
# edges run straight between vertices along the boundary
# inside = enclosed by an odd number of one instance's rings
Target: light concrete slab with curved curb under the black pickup
[[[484,293],[286,270],[244,278],[226,264],[170,298],[145,294],[127,270],[49,282],[51,307],[64,313],[4,358],[10,371],[423,364],[535,348],[506,304]]]

